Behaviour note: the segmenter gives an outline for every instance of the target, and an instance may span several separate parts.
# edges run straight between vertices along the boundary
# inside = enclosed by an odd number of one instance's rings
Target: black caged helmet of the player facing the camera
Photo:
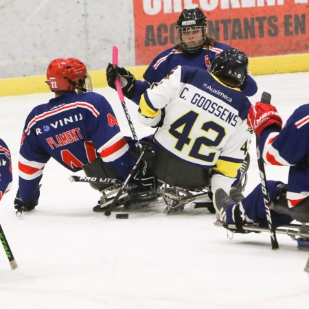
[[[189,30],[201,31],[202,37],[196,40],[196,43],[183,41],[183,34]],[[179,36],[179,44],[188,53],[196,53],[200,51],[205,44],[207,36],[207,18],[199,8],[185,9],[181,12],[177,21],[177,33]]]

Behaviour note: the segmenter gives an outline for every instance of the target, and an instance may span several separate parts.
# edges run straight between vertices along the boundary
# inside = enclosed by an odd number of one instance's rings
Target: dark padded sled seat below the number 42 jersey
[[[210,185],[211,169],[203,169],[192,163],[187,163],[161,147],[157,148],[151,167],[159,181],[174,187],[194,190]]]

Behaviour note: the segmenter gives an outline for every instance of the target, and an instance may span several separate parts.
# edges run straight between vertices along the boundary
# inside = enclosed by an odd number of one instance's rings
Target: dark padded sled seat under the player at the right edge
[[[305,198],[304,201],[292,208],[288,207],[288,201],[275,203],[273,210],[279,214],[287,214],[299,222],[309,222],[309,198]]]

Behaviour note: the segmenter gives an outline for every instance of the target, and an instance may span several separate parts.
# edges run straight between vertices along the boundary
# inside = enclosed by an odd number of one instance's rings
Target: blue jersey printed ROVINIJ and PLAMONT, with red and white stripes
[[[98,93],[67,92],[28,115],[19,153],[19,191],[23,203],[38,198],[43,168],[52,157],[71,172],[97,157],[123,179],[135,164],[111,105]]]

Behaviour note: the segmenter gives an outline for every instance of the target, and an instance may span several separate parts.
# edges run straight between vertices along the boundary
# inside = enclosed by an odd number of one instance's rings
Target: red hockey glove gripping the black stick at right
[[[277,113],[277,108],[275,108],[275,106],[256,102],[249,110],[247,124],[251,126],[258,137],[260,137],[262,130],[271,124],[275,124],[281,130],[282,119]]]

